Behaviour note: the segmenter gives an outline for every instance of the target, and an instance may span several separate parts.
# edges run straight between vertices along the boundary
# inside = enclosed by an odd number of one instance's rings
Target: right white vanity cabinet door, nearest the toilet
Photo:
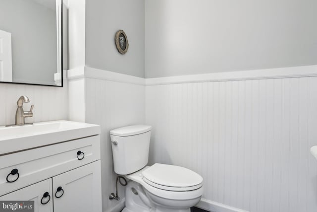
[[[101,212],[100,160],[53,177],[55,212]]]

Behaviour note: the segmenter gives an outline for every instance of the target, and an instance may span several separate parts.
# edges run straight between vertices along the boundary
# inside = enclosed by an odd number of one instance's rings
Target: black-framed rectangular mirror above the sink
[[[62,0],[0,0],[0,82],[63,86]]]

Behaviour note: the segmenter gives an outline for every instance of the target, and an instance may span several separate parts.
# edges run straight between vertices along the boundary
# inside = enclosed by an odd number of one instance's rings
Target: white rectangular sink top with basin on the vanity
[[[100,126],[71,121],[0,127],[0,155],[100,134]]]

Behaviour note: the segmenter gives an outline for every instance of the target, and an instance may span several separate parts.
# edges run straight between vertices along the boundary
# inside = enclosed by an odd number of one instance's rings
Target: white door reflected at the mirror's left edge
[[[11,33],[0,30],[0,81],[12,81]]]

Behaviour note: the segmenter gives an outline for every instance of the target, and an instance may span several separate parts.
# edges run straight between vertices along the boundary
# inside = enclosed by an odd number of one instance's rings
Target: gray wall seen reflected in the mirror
[[[13,81],[55,84],[55,8],[34,0],[0,0],[0,29],[12,36]]]

